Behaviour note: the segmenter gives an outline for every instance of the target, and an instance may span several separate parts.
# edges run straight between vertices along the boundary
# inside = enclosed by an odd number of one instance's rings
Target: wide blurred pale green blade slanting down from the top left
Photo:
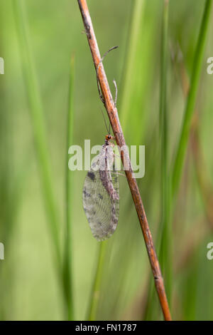
[[[35,77],[33,57],[28,43],[28,27],[26,24],[25,8],[22,0],[13,0],[13,10],[16,19],[16,29],[20,45],[21,61],[23,66],[23,78],[26,83],[28,103],[30,105],[33,135],[37,153],[38,168],[40,172],[43,199],[45,202],[46,215],[53,244],[54,263],[61,279],[61,254],[58,222],[59,215],[53,195],[53,185],[50,173],[50,157],[47,145],[45,120],[43,107],[40,101],[38,83]]]

